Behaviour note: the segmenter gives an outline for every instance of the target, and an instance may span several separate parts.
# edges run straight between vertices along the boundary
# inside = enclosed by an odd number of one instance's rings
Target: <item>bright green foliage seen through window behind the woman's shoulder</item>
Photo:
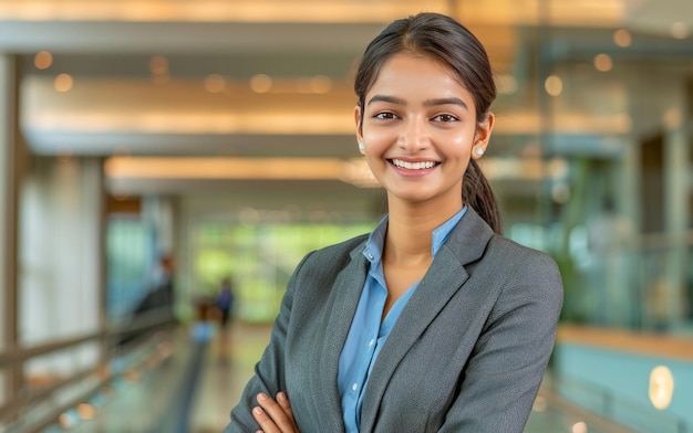
[[[368,233],[374,225],[200,223],[192,245],[195,297],[213,298],[221,279],[231,277],[236,317],[272,321],[289,277],[307,253]]]

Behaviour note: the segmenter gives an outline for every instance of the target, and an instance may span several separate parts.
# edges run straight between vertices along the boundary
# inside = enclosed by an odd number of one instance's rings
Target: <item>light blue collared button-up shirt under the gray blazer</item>
[[[457,225],[466,210],[467,207],[465,205],[459,212],[433,231],[433,256],[443,246],[453,228]],[[342,415],[348,433],[359,432],[361,406],[371,369],[404,306],[418,286],[418,282],[416,282],[410,287],[394,303],[381,323],[385,300],[387,299],[387,288],[381,260],[386,231],[387,216],[385,215],[371,233],[363,250],[363,255],[371,263],[370,271],[339,359],[338,387],[342,398]]]

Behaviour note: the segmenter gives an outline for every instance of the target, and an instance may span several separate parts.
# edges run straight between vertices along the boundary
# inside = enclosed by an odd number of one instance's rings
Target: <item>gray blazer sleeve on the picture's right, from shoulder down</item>
[[[551,356],[563,291],[556,262],[530,251],[498,266],[504,288],[439,432],[521,433]]]

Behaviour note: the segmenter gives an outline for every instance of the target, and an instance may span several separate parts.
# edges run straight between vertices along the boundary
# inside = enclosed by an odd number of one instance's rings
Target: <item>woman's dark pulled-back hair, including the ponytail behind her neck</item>
[[[477,122],[488,116],[496,98],[496,84],[484,45],[454,19],[433,12],[393,21],[371,41],[354,81],[361,107],[383,63],[401,53],[426,55],[447,65],[474,97]],[[462,197],[496,233],[501,232],[496,198],[475,159],[469,159],[465,171]]]

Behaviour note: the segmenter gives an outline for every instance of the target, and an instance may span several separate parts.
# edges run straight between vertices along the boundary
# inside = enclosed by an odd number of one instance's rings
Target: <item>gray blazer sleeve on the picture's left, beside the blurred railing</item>
[[[287,331],[291,321],[291,307],[297,286],[296,281],[301,267],[311,254],[303,257],[289,278],[287,292],[282,298],[279,315],[275,320],[269,344],[260,361],[255,366],[255,374],[244,389],[240,401],[231,410],[231,421],[224,430],[224,433],[257,431],[260,426],[255,421],[251,413],[252,408],[258,405],[256,395],[259,392],[276,395],[277,392],[286,390],[287,388],[285,378],[285,349]]]

